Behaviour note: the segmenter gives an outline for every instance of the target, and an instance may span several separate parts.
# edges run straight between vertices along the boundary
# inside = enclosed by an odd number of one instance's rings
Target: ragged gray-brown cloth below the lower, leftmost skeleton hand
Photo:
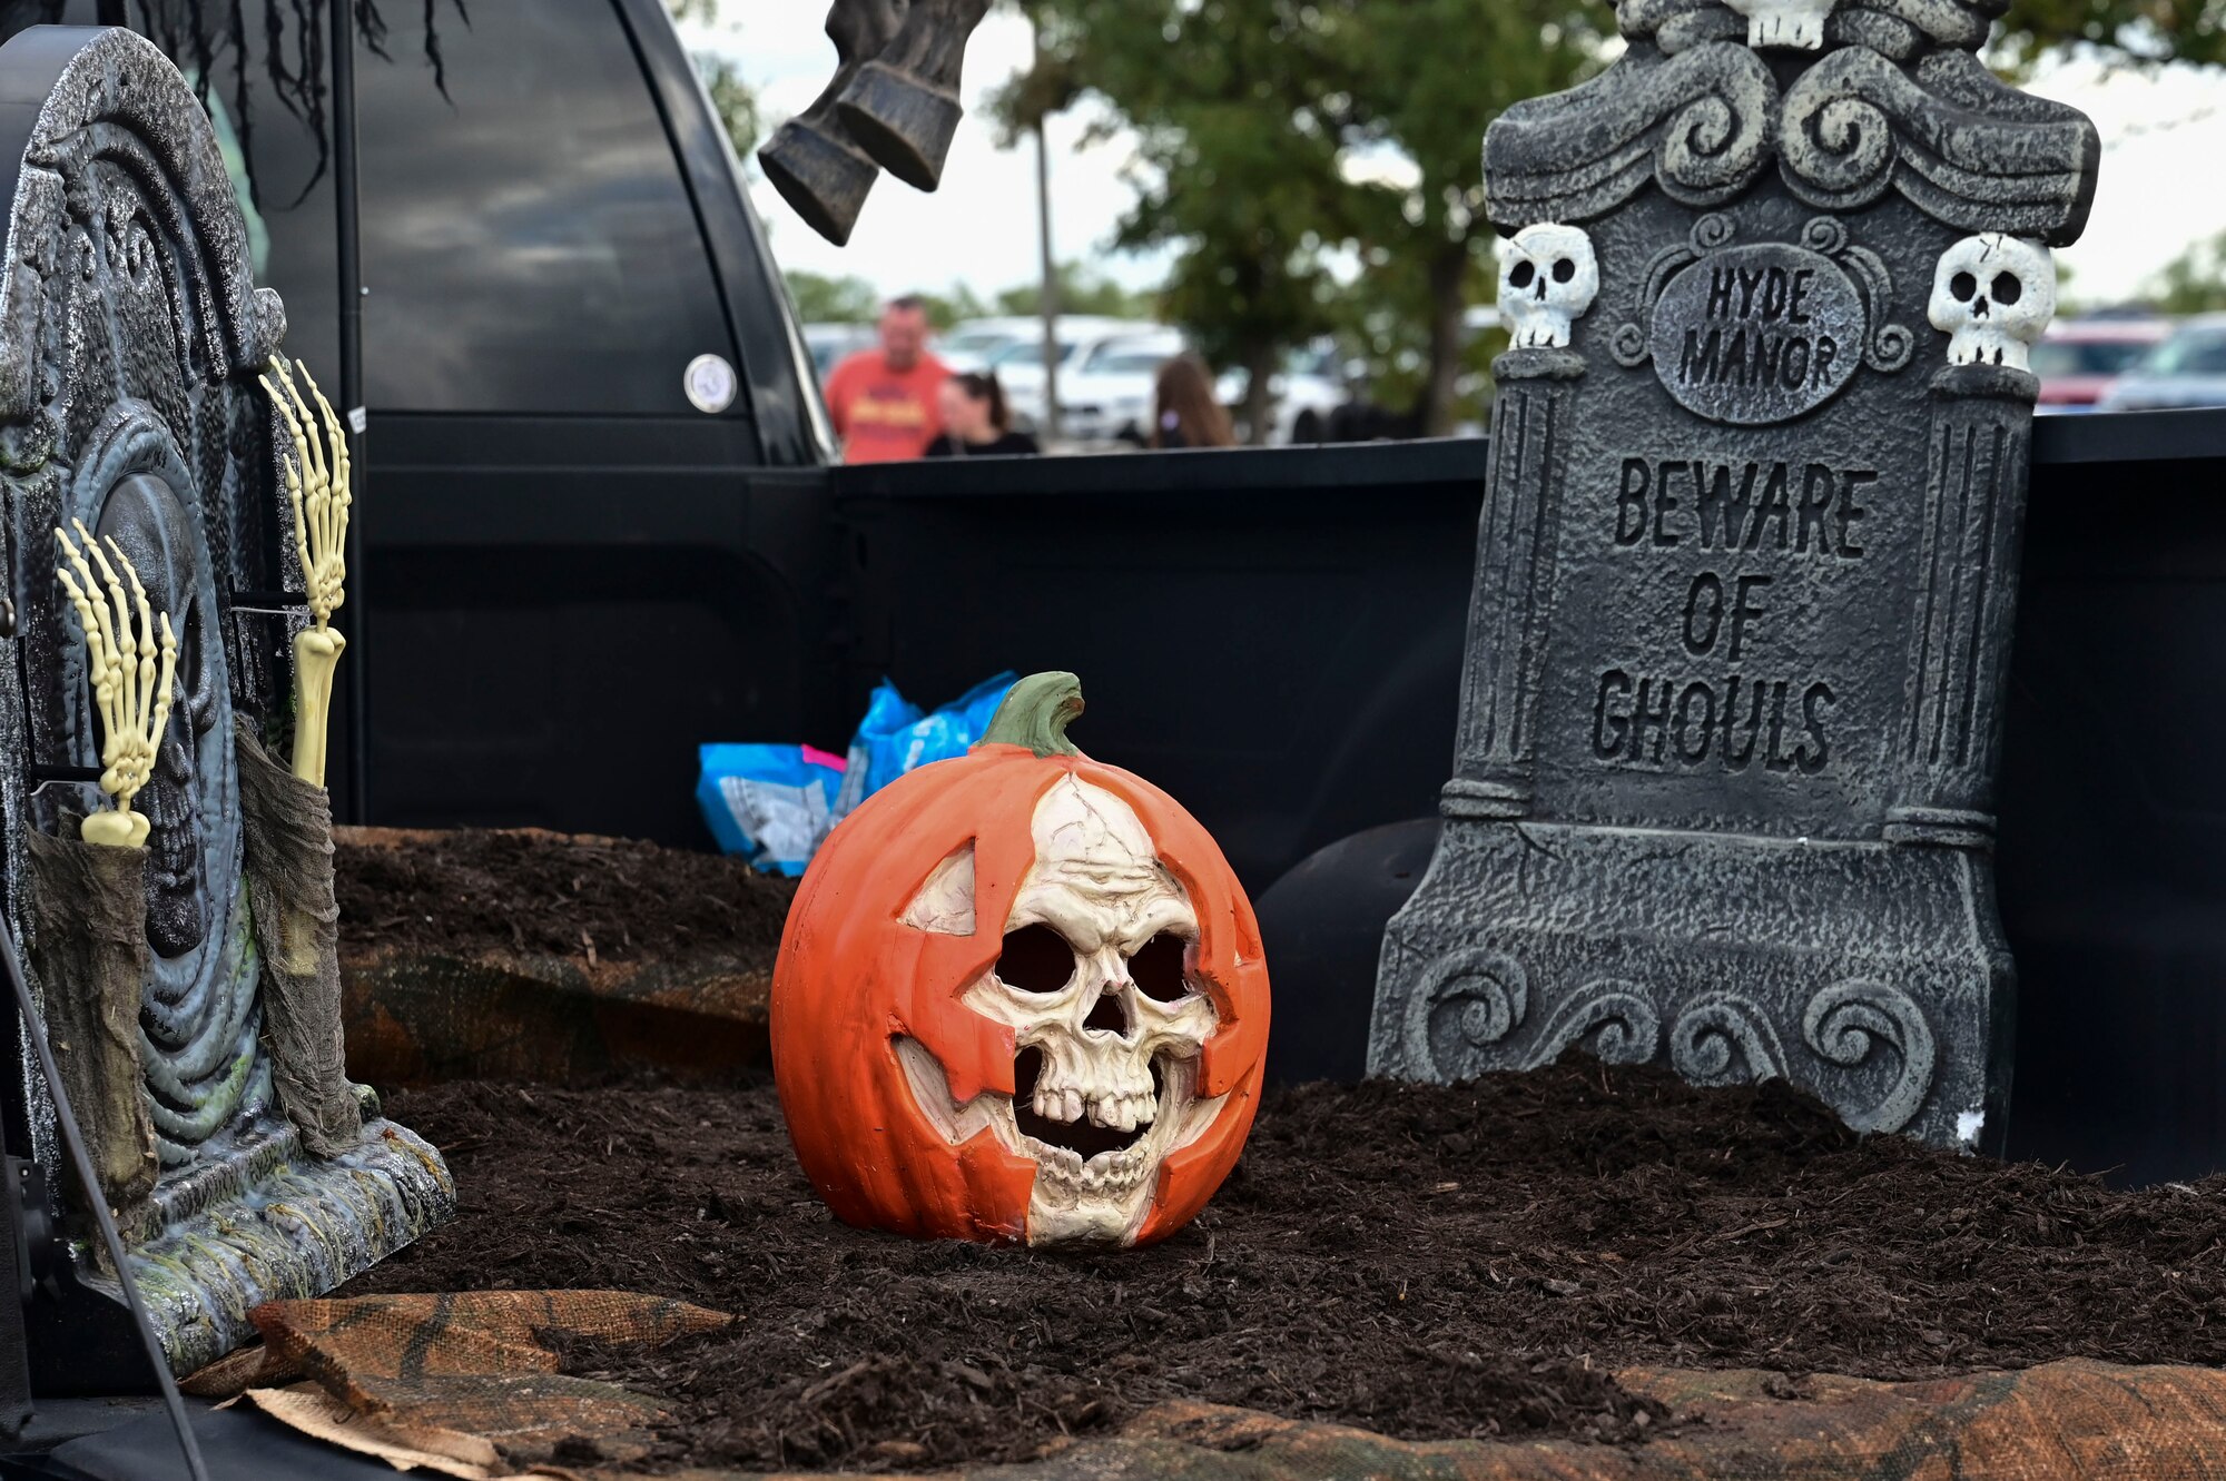
[[[76,832],[76,821],[65,821]],[[147,992],[147,849],[27,834],[27,952],[45,994],[47,1038],[85,1132],[100,1196],[125,1212],[154,1192],[160,1163],[138,1058]]]

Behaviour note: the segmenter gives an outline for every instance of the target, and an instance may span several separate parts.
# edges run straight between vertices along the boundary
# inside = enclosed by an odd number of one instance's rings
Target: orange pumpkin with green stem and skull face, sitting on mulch
[[[917,1239],[1151,1243],[1260,1101],[1251,901],[1173,798],[1066,740],[1071,674],[884,787],[819,847],[772,976],[797,1161]]]

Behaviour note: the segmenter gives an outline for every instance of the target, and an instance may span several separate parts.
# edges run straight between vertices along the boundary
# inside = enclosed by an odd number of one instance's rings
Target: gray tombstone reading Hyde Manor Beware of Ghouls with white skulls
[[[2048,247],[2099,140],[2001,0],[1623,0],[1485,136],[1514,349],[1376,1074],[1583,1045],[1999,1145],[1992,894]]]

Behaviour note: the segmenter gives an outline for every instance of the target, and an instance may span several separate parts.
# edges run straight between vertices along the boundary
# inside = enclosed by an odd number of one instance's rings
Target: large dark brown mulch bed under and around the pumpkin
[[[739,1312],[583,1372],[677,1403],[661,1463],[1017,1459],[1160,1399],[1456,1434],[1636,1439],[1627,1363],[1923,1376],[2226,1363],[2219,1199],[1861,1141],[1785,1085],[1589,1061],[1269,1096],[1155,1250],[917,1245],[837,1225],[770,1087],[445,1085],[459,1221],[352,1292],[628,1288]]]

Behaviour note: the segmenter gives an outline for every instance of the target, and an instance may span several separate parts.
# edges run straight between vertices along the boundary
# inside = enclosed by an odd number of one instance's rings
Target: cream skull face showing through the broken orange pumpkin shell
[[[1035,865],[997,967],[966,990],[1013,1030],[1015,1094],[957,1101],[917,1041],[897,1043],[919,1107],[953,1145],[988,1130],[1035,1163],[1028,1243],[1133,1243],[1160,1163],[1204,1132],[1222,1096],[1198,1065],[1218,1027],[1184,976],[1198,916],[1122,798],[1068,776],[1035,805]],[[906,912],[922,930],[973,930],[973,856],[937,869]]]

